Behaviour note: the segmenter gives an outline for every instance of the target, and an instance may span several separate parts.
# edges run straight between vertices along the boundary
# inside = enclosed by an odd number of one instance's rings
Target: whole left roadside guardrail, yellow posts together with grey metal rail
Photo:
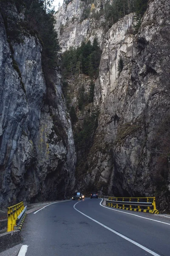
[[[26,218],[26,209],[24,203],[20,202],[13,206],[8,207],[8,227],[7,232],[14,231],[15,227],[18,227],[19,230],[23,227],[23,222]]]

